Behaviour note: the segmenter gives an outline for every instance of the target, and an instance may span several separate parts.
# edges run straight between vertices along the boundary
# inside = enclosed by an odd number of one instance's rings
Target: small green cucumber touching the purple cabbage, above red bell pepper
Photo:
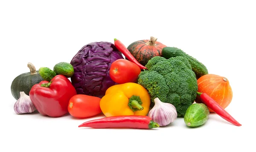
[[[57,74],[64,75],[70,78],[74,74],[73,65],[67,62],[59,62],[53,67],[53,71]]]

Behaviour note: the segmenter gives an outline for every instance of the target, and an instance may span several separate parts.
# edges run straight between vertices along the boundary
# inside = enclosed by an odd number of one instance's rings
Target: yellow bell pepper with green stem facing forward
[[[128,82],[109,87],[100,100],[100,108],[106,117],[147,115],[150,103],[150,95],[143,86]]]

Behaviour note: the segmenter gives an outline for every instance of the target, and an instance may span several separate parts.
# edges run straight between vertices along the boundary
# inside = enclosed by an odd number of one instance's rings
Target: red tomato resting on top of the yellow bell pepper
[[[123,84],[136,82],[140,72],[140,67],[135,63],[127,59],[117,59],[112,63],[109,75],[114,82]]]

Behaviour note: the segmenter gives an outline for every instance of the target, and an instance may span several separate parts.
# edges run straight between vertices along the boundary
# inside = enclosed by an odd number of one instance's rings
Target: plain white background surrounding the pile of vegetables
[[[251,152],[255,145],[256,9],[253,1],[6,0],[0,2],[1,152]],[[32,62],[37,70],[70,62],[90,42],[131,42],[157,37],[225,76],[233,89],[226,108],[242,126],[216,114],[206,124],[186,127],[80,129],[70,115],[17,115],[10,86]],[[253,150],[254,149],[254,150]]]

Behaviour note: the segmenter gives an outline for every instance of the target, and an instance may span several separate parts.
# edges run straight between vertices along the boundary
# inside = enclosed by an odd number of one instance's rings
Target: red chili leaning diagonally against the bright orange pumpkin
[[[241,126],[238,121],[236,121],[226,110],[224,110],[215,100],[213,100],[206,93],[197,92],[201,101],[207,105],[207,107],[211,108],[216,114],[224,118],[226,121],[236,125]]]

